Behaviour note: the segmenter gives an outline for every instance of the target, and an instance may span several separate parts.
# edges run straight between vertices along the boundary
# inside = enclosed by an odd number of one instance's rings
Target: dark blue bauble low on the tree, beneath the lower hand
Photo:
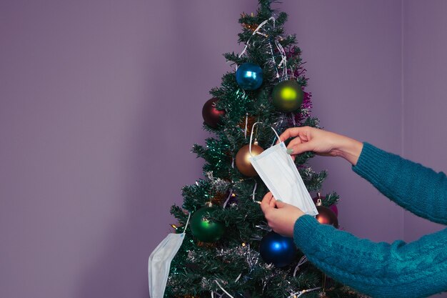
[[[261,239],[259,253],[264,262],[284,267],[295,259],[296,247],[292,238],[283,237],[272,231]]]

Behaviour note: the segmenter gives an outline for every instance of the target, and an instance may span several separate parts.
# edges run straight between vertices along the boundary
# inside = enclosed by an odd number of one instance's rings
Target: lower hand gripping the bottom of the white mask
[[[267,219],[268,226],[276,233],[286,237],[293,237],[293,227],[296,219],[304,215],[304,212],[298,207],[276,201],[271,192],[263,197],[261,209]]]

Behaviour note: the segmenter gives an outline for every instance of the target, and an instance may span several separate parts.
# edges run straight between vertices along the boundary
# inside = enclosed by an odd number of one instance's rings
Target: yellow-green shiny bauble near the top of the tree
[[[303,104],[304,92],[293,79],[281,81],[273,88],[273,106],[279,111],[296,111]]]

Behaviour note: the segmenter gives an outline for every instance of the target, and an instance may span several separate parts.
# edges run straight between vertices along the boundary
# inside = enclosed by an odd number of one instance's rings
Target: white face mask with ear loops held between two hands
[[[275,134],[278,136],[276,131]],[[251,129],[250,136],[250,152],[252,138],[253,129]],[[296,169],[296,164],[286,150],[286,144],[282,141],[266,149],[261,154],[250,157],[251,165],[256,169],[259,177],[261,177],[275,199],[292,204],[306,214],[316,216],[318,211],[315,204],[313,204],[311,195],[308,193],[303,179],[298,173],[298,169]]]

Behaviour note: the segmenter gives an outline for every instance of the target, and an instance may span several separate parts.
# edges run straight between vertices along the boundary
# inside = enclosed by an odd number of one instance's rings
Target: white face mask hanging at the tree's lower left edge
[[[191,214],[190,214],[191,216]],[[149,256],[148,275],[149,275],[149,295],[151,298],[163,298],[166,283],[169,277],[169,268],[171,261],[179,251],[183,240],[185,239],[186,222],[184,232],[181,234],[170,233],[163,239]]]

